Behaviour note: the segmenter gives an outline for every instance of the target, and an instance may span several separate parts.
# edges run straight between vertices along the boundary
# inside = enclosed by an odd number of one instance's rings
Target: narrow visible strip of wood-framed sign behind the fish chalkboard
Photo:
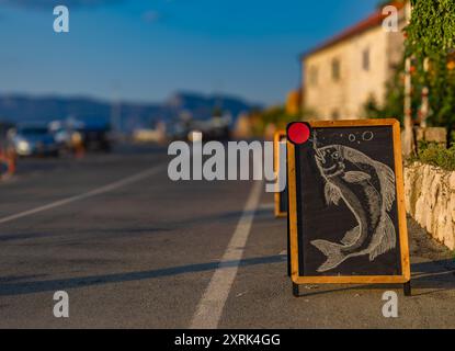
[[[273,167],[276,179],[281,179],[280,173],[286,172],[286,169],[282,169],[286,161],[286,132],[278,131],[275,133],[273,144],[274,161]],[[284,147],[280,147],[284,144]],[[284,161],[284,162],[283,162]],[[278,188],[278,186],[277,186]],[[286,217],[287,216],[287,185],[283,191],[275,192],[275,216]]]

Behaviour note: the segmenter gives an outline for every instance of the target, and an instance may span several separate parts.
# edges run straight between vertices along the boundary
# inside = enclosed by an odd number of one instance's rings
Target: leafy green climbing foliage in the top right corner
[[[455,69],[448,57],[455,49],[455,0],[412,0],[406,29],[406,57],[413,58],[413,93],[430,89],[430,125],[455,126]],[[428,59],[428,69],[425,69]]]

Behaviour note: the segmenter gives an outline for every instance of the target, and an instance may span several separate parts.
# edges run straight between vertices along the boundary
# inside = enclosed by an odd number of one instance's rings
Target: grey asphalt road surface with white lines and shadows
[[[303,286],[257,182],[169,180],[166,149],[23,160],[0,184],[1,328],[453,328],[455,264],[412,220],[413,296]],[[223,263],[220,264],[220,261]],[[399,317],[382,314],[383,293]],[[69,294],[69,318],[53,314]]]

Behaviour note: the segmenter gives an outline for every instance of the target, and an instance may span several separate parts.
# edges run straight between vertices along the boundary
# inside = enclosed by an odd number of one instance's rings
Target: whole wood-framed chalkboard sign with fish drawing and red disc
[[[410,294],[399,122],[294,123],[287,138],[294,288],[403,283]]]

